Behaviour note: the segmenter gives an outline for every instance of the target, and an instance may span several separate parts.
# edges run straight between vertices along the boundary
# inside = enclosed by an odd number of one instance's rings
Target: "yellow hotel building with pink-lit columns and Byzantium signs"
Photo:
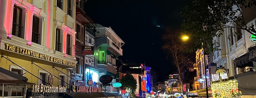
[[[0,67],[36,84],[27,85],[32,92],[27,96],[66,92],[77,63],[75,0],[1,0],[0,7]],[[41,84],[49,90],[36,90]],[[25,92],[8,87],[0,96],[25,96]]]

